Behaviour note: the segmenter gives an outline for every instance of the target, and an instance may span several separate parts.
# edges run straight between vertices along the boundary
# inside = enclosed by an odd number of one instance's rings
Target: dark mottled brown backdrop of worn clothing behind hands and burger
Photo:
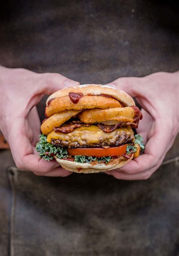
[[[0,64],[107,83],[179,67],[178,5],[168,1],[5,1]],[[42,117],[44,100],[39,104]],[[179,156],[179,137],[166,159]],[[12,166],[12,168],[9,168]],[[177,158],[146,181],[48,178],[0,152],[0,256],[179,254]]]

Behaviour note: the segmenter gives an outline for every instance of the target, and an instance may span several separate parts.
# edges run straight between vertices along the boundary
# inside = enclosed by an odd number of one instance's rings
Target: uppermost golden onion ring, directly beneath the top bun
[[[65,111],[65,110],[82,110],[82,109],[108,109],[108,108],[117,108],[121,107],[118,100],[114,98],[108,98],[104,96],[88,96],[84,95],[78,101],[78,103],[73,103],[69,96],[62,96],[55,98],[46,106],[46,116],[50,117],[53,114]]]

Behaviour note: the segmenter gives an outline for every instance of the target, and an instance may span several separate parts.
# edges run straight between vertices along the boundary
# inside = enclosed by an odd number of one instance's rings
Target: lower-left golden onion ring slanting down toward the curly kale
[[[53,131],[54,126],[59,127],[60,125],[68,121],[71,117],[76,116],[80,112],[81,110],[80,111],[66,110],[66,111],[62,111],[60,113],[54,114],[53,116],[49,117],[42,123],[41,125],[42,133],[47,135],[48,133]]]

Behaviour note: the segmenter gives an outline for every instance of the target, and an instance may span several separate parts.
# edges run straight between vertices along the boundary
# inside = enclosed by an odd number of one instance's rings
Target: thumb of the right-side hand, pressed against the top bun
[[[131,97],[137,97],[139,96],[140,79],[139,77],[121,77],[106,85],[127,92]]]

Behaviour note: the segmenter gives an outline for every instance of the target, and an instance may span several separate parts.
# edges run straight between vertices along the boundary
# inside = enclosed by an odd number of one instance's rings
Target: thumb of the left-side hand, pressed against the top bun
[[[74,80],[71,80],[59,73],[45,73],[46,83],[44,87],[44,94],[52,94],[64,87],[77,86],[80,83]]]

